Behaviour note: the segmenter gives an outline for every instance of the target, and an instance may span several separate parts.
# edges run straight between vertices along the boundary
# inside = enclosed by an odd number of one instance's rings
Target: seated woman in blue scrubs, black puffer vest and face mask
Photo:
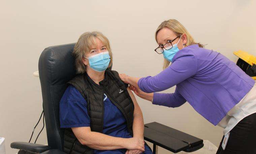
[[[151,154],[143,140],[142,112],[128,85],[112,66],[108,39],[82,34],[73,51],[77,75],[60,101],[66,153]],[[71,129],[70,129],[71,128]]]

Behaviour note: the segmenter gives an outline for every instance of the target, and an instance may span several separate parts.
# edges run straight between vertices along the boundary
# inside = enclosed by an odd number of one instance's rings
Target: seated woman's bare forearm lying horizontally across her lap
[[[98,132],[87,133],[80,139],[83,145],[96,150],[116,150],[125,148],[125,139],[108,136]]]

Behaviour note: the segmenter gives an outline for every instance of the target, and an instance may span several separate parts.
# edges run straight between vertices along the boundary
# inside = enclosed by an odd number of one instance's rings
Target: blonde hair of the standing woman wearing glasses
[[[181,35],[181,34],[186,34],[187,35],[187,43],[185,46],[190,46],[190,45],[194,45],[194,44],[198,44],[200,48],[204,48],[204,46],[200,43],[195,43],[193,37],[190,35],[190,33],[187,31],[187,29],[177,20],[175,19],[169,19],[166,21],[163,21],[158,28],[156,29],[156,33],[155,33],[155,39],[157,42],[157,33],[159,32],[159,30],[161,30],[162,28],[167,27],[169,29],[171,29],[172,31],[174,31],[177,36]],[[163,65],[163,69],[166,69],[169,66],[170,62],[167,59],[164,59],[164,65]]]

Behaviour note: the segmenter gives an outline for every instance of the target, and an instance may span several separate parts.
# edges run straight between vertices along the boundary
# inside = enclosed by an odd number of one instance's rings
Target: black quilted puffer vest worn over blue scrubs
[[[87,73],[78,74],[68,84],[73,85],[87,101],[87,110],[91,120],[91,131],[102,133],[104,118],[104,93],[123,113],[128,131],[133,136],[134,104],[125,84],[116,71],[105,71],[105,79],[96,84]],[[64,133],[64,152],[70,154],[93,154],[94,149],[82,145],[70,128]]]

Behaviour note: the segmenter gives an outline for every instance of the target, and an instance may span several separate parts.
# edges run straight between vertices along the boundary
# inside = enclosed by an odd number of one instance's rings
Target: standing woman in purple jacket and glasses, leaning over
[[[196,43],[177,20],[163,21],[155,38],[164,70],[153,77],[120,78],[153,104],[179,107],[188,101],[210,123],[224,128],[229,138],[223,136],[218,154],[256,153],[255,81],[225,56]],[[175,85],[174,93],[158,93]]]

